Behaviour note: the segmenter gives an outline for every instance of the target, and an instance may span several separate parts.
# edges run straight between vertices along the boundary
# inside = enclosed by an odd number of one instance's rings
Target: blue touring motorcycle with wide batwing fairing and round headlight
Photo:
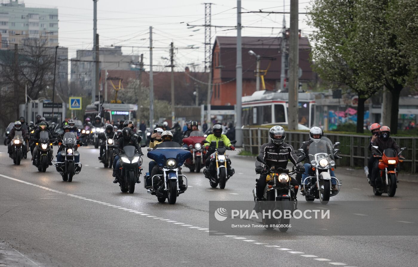
[[[186,175],[179,174],[181,165],[191,157],[191,153],[185,147],[181,147],[177,142],[163,142],[157,148],[148,148],[148,158],[155,160],[162,168],[162,174],[153,175],[145,173],[144,187],[148,193],[157,196],[158,202],[163,203],[168,200],[169,204],[175,204],[177,196],[187,190]],[[186,183],[185,188],[180,188],[179,178]]]

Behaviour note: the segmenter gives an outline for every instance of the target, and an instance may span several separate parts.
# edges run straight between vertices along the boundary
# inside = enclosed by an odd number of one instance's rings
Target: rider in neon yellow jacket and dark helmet
[[[196,126],[197,127],[197,126]],[[222,135],[222,126],[219,124],[215,124],[212,127],[212,134],[208,135],[206,137],[206,141],[209,142],[209,144],[212,144],[213,141],[216,141],[216,147],[211,147],[207,142],[206,142],[206,162],[205,162],[205,166],[206,168],[203,170],[203,173],[205,174],[206,178],[210,177],[210,155],[212,155],[212,153],[215,152],[215,149],[218,148],[218,142],[219,141],[223,141],[224,142],[224,146],[225,147],[229,147],[231,148],[231,150],[235,150],[235,147],[231,144],[231,141],[229,141],[228,137],[226,135]],[[228,162],[229,161],[229,162]],[[232,176],[234,174],[233,169],[231,169],[230,166],[230,160],[227,161],[227,167],[228,167],[228,175]]]

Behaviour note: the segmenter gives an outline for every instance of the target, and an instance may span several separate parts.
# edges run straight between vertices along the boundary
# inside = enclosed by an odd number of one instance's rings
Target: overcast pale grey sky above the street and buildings
[[[311,1],[300,0],[299,12],[306,12]],[[92,0],[27,0],[27,7],[58,8],[59,45],[69,48],[69,58],[75,57],[77,49],[91,49],[93,46],[93,1]],[[204,24],[204,1],[200,0],[99,0],[97,2],[97,33],[100,47],[126,46],[126,55],[144,54],[145,64],[149,63],[149,26],[153,26],[153,64],[169,65],[161,57],[169,57],[169,46],[175,51],[177,71],[187,64],[204,67],[204,27],[188,28]],[[212,25],[236,25],[236,0],[209,0],[212,5]],[[242,0],[242,12],[289,11],[290,0]],[[285,15],[289,26],[288,14]],[[283,27],[283,14],[242,14],[243,26]],[[306,15],[299,15],[299,29],[303,36],[311,33],[306,25]],[[280,29],[243,28],[242,36],[278,36]],[[215,36],[236,36],[236,30],[212,28],[212,44]],[[182,49],[194,45],[199,49]],[[137,47],[132,47],[137,46]],[[139,48],[138,48],[139,46]],[[148,68],[146,68],[148,69]],[[158,68],[155,68],[158,70]]]

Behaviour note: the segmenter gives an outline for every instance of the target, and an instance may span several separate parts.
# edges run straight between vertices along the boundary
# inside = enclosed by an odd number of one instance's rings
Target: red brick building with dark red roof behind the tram
[[[281,71],[281,38],[276,37],[242,37],[242,96],[255,92],[255,70],[257,66],[255,56],[248,54],[252,50],[257,55],[276,58],[271,62],[270,69],[264,76],[266,90],[280,88]],[[311,47],[308,38],[299,38],[299,67],[302,76],[299,81],[306,87],[309,81],[316,77],[311,69],[309,53]],[[260,69],[265,70],[270,60],[261,59]],[[212,105],[236,104],[236,64],[237,64],[237,38],[217,36],[212,49]],[[260,81],[261,84],[261,81]],[[262,86],[260,85],[260,90]]]

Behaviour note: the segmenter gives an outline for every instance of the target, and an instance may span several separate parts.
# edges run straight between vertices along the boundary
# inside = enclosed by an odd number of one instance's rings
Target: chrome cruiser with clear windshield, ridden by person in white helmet
[[[326,138],[328,139],[328,138]],[[319,142],[312,142],[309,145],[309,160],[311,167],[309,168],[309,175],[302,181],[302,186],[306,201],[314,201],[319,198],[322,204],[327,204],[331,196],[339,193],[342,186],[342,180],[336,177],[331,177],[330,170],[334,170],[335,158],[342,158],[338,155],[339,149],[335,148],[339,145],[336,142],[332,146],[331,141],[324,137]],[[333,150],[334,147],[334,150]],[[334,153],[333,153],[334,151]],[[303,153],[303,151],[300,151]],[[337,183],[337,191],[331,193],[331,179],[335,179]]]

